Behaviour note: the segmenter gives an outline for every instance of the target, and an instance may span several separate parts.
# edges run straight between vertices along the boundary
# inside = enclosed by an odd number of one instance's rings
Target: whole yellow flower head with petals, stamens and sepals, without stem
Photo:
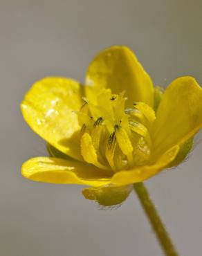
[[[131,184],[187,156],[202,126],[202,89],[193,77],[179,77],[163,93],[129,48],[113,46],[91,62],[85,86],[44,78],[21,111],[53,156],[26,161],[24,177],[89,185],[86,199],[116,205]]]

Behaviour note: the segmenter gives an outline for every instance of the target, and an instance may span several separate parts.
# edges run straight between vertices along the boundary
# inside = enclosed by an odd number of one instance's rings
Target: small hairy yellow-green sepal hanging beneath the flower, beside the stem
[[[104,185],[99,188],[86,188],[82,191],[85,199],[94,200],[100,205],[118,205],[125,201],[131,192],[131,185]]]

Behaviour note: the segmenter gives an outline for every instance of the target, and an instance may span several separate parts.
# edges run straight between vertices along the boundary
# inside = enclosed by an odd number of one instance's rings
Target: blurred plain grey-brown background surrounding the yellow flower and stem
[[[80,186],[21,177],[21,163],[46,147],[19,103],[44,76],[83,81],[93,56],[114,44],[132,48],[155,84],[187,74],[201,83],[201,17],[201,0],[0,0],[1,256],[162,255],[134,193],[99,210]],[[146,182],[183,256],[201,255],[201,150]]]

